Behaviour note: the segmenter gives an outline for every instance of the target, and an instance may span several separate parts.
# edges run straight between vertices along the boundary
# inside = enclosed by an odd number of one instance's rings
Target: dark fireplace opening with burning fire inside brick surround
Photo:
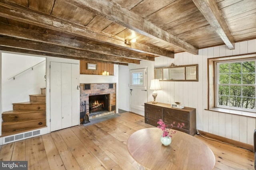
[[[89,114],[100,111],[109,111],[110,94],[89,96]]]

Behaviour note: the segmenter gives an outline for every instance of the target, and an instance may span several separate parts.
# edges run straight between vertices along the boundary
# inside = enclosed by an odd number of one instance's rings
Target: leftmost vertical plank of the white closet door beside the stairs
[[[50,119],[51,131],[61,129],[61,63],[50,63]]]

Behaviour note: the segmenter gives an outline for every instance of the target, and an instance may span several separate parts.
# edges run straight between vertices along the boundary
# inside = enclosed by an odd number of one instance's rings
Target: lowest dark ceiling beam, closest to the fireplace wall
[[[26,49],[17,49],[17,48],[13,48],[13,47],[0,46],[0,50],[11,51],[11,52],[15,52],[15,53],[39,55],[39,56],[45,56],[45,57],[58,57],[58,58],[65,58],[65,59],[85,60],[89,63],[90,62],[91,63],[98,62],[98,63],[108,63],[108,64],[118,64],[118,65],[128,66],[127,63],[118,63],[118,62],[102,61],[102,60],[94,60],[94,59],[81,59],[80,57],[73,57],[73,56],[59,55],[59,54],[52,54],[52,53],[44,53],[44,52],[32,51],[32,50],[26,50]]]

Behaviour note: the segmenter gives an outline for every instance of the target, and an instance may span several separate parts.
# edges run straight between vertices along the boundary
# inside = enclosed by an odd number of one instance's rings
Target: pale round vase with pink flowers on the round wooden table
[[[164,146],[170,145],[172,143],[172,134],[176,133],[176,131],[171,130],[175,124],[175,121],[172,124],[170,124],[170,126],[171,126],[170,128],[168,127],[168,125],[164,124],[162,119],[159,119],[157,124],[159,124],[157,127],[163,131],[163,135],[161,135],[161,137],[160,137],[161,143]],[[180,123],[178,123],[178,125],[177,125],[177,127],[180,127],[180,128],[182,128],[182,126],[185,126],[185,124],[181,123],[181,125],[180,125]]]

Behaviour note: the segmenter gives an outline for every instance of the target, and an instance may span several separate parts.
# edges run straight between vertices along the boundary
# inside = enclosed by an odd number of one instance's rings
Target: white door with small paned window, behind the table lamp
[[[144,103],[148,102],[147,68],[130,70],[130,111],[144,115]]]

